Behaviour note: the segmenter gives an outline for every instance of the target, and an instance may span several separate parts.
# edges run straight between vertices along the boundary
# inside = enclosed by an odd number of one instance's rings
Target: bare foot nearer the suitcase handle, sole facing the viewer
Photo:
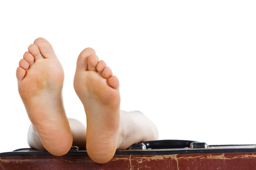
[[[113,157],[120,135],[119,81],[92,48],[78,57],[74,88],[87,116],[87,153],[106,163]]]

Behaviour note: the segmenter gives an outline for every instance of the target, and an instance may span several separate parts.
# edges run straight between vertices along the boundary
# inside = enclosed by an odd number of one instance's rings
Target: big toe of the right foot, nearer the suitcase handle
[[[88,57],[91,54],[95,54],[93,48],[85,48],[78,56],[76,62],[76,70],[85,71],[88,70]]]

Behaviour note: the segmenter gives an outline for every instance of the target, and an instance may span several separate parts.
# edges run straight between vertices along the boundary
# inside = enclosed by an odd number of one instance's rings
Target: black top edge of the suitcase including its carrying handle
[[[116,150],[115,155],[172,155],[191,153],[256,153],[255,144],[207,145],[204,142],[186,140],[157,140],[134,144],[126,150]],[[86,150],[71,147],[67,156],[87,156]],[[52,156],[47,150],[22,148],[12,152],[0,153],[3,156]]]

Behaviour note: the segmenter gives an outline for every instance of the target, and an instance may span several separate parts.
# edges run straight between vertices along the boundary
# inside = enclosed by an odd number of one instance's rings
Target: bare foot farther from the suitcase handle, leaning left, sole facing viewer
[[[55,156],[72,146],[72,133],[62,103],[64,72],[52,45],[35,40],[16,72],[20,97],[44,148]]]

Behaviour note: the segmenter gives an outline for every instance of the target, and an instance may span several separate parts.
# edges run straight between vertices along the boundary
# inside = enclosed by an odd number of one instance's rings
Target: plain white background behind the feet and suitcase
[[[73,90],[87,47],[120,80],[121,109],[140,110],[159,139],[255,144],[255,1],[0,1],[0,152],[28,147],[30,121],[15,71],[44,37],[65,71],[68,117],[86,116]]]

